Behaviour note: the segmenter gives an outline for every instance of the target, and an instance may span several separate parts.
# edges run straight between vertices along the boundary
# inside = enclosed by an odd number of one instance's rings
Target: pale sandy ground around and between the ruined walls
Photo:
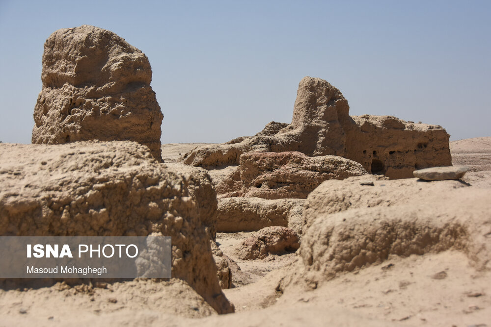
[[[177,161],[179,152],[198,145],[164,145],[164,160]],[[453,163],[471,168],[464,181],[470,187],[491,188],[491,137],[450,146]],[[225,173],[213,174],[219,179]],[[300,257],[291,253],[240,260],[235,248],[248,234],[217,235],[220,249],[242,270],[238,278],[243,283],[224,290],[235,304],[234,314],[213,314],[192,292],[177,288],[178,281],[117,283],[81,291],[57,285],[0,290],[0,326],[491,327],[491,272],[476,271],[462,252],[391,256],[315,290],[297,285],[281,293],[280,279],[298,267]],[[176,302],[181,309],[175,309]]]

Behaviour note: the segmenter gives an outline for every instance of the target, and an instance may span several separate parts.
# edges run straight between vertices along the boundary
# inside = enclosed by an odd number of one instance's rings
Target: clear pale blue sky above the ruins
[[[145,52],[162,142],[225,142],[287,122],[300,79],[351,115],[491,136],[491,1],[0,0],[0,141],[30,143],[45,40],[95,25]]]

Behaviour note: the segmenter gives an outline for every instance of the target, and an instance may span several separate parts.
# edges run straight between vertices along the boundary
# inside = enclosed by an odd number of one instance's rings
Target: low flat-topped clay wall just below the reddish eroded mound
[[[259,230],[267,226],[289,226],[290,221],[301,217],[303,201],[305,200],[241,197],[219,199],[217,231],[234,233]]]

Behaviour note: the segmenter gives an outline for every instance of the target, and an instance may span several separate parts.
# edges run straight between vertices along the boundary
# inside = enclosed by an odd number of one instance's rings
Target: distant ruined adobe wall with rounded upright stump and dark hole
[[[340,155],[369,173],[412,177],[416,169],[451,165],[449,135],[441,126],[414,124],[391,116],[349,116],[348,101],[320,78],[299,84],[293,119],[275,135],[243,137],[229,144],[196,148],[184,163],[209,167],[238,164],[249,151],[300,151],[308,156]]]

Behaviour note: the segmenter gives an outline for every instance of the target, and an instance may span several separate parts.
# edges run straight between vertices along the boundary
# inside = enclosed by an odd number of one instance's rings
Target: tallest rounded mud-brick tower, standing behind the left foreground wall
[[[131,140],[161,160],[163,115],[148,58],[116,34],[83,25],[46,40],[32,143]]]

